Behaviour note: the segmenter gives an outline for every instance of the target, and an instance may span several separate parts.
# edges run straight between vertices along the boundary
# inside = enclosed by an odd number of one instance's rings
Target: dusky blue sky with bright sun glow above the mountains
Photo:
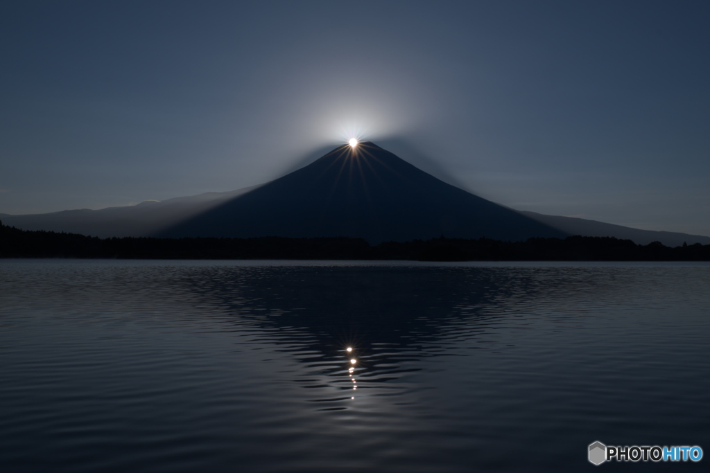
[[[520,210],[710,235],[708,1],[6,1],[0,213],[373,140]]]

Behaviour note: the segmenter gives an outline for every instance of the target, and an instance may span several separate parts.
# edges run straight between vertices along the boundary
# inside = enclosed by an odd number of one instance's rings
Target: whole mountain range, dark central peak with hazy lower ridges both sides
[[[100,237],[349,236],[380,243],[442,234],[496,240],[588,235],[670,246],[710,243],[697,235],[515,211],[446,184],[371,142],[340,146],[261,186],[96,211],[0,214],[0,220],[26,230]]]

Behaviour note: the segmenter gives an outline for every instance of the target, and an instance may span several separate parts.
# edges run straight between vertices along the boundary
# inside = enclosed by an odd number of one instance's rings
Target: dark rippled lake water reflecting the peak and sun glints
[[[4,260],[0,471],[701,471],[709,337],[703,263]]]

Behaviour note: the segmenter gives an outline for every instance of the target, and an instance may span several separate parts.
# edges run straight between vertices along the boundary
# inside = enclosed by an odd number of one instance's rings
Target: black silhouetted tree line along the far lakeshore
[[[710,245],[636,245],[571,236],[505,242],[439,238],[369,245],[361,238],[97,238],[0,222],[0,257],[178,260],[710,261]]]

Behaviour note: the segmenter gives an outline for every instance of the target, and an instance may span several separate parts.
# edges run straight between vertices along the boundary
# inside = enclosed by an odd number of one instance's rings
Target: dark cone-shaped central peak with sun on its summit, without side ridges
[[[567,236],[446,184],[368,141],[335,148],[156,236],[348,236],[381,243],[442,234],[496,240]]]

